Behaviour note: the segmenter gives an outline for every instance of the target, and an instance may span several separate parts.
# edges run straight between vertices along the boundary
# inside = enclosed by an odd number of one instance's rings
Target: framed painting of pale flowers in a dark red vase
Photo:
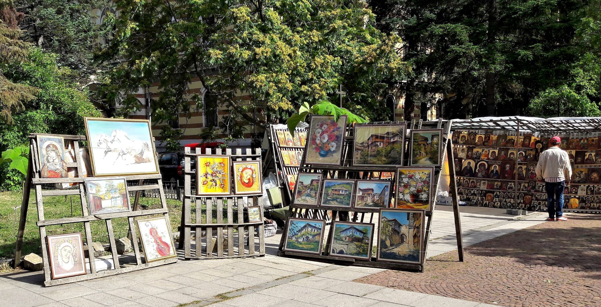
[[[398,202],[423,204],[430,198],[430,175],[426,171],[412,171],[399,174]]]

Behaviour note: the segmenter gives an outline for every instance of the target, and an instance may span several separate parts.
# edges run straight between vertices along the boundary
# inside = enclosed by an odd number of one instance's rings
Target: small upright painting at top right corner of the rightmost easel
[[[411,130],[409,166],[440,166],[442,129]]]

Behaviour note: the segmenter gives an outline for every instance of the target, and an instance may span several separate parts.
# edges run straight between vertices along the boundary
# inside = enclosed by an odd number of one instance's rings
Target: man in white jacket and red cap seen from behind
[[[567,220],[563,216],[563,190],[566,184],[570,184],[572,178],[572,167],[570,157],[559,145],[561,138],[554,136],[549,141],[549,149],[543,151],[538,158],[536,175],[538,181],[545,180],[547,191],[547,220]]]

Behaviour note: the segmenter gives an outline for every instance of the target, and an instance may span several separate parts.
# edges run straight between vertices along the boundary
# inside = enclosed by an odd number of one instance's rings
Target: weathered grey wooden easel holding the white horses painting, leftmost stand
[[[40,178],[40,157],[38,157],[38,148],[36,137],[40,136],[60,136],[65,139],[65,141],[73,141],[73,150],[75,151],[75,162],[67,163],[67,167],[76,167],[77,168],[77,177],[75,178]],[[88,279],[100,278],[104,276],[117,275],[120,273],[132,272],[135,270],[147,269],[148,267],[156,267],[162,266],[163,264],[175,263],[177,262],[177,257],[169,258],[165,260],[154,261],[151,263],[142,263],[141,255],[144,252],[141,252],[138,246],[138,234],[135,231],[135,222],[134,217],[137,216],[147,216],[151,214],[163,214],[169,222],[169,213],[167,209],[167,203],[165,199],[165,192],[163,191],[163,184],[160,174],[152,174],[152,175],[133,175],[126,176],[126,180],[156,180],[156,183],[153,184],[140,184],[139,186],[128,186],[130,192],[136,191],[136,198],[132,208],[132,211],[120,212],[120,213],[107,213],[100,214],[97,216],[90,215],[88,210],[87,199],[85,197],[84,190],[84,177],[81,177],[81,174],[84,174],[84,162],[79,159],[79,141],[85,141],[85,136],[82,135],[47,135],[47,134],[31,134],[29,135],[29,167],[28,173],[25,180],[25,187],[23,189],[23,199],[21,202],[21,216],[19,220],[19,233],[17,234],[17,244],[14,252],[15,261],[14,267],[19,264],[23,246],[23,233],[25,232],[25,223],[27,220],[27,210],[29,205],[29,194],[31,187],[33,186],[35,189],[35,204],[38,211],[38,222],[37,225],[40,228],[40,240],[41,240],[41,254],[44,264],[44,285],[52,286],[52,285],[61,285],[61,284],[69,284],[70,282],[78,282],[85,281]],[[99,177],[100,178],[100,177]],[[42,190],[42,184],[45,183],[77,183],[76,189],[67,189],[67,190]],[[161,208],[151,209],[151,210],[138,210],[138,201],[139,201],[139,191],[141,190],[159,190],[160,203]],[[44,219],[44,196],[56,196],[56,195],[79,195],[81,198],[82,205],[82,216],[75,217],[62,217],[59,219],[46,220]],[[120,258],[117,254],[117,246],[115,245],[115,236],[112,228],[111,219],[117,217],[127,217],[129,222],[129,236],[132,238],[132,246],[135,255],[135,263],[128,263],[125,257]],[[109,237],[110,250],[112,254],[112,260],[114,261],[115,268],[112,270],[104,270],[102,272],[97,272],[96,263],[94,257],[94,248],[92,246],[92,233],[90,229],[90,222],[93,220],[104,220],[106,222],[106,231]],[[50,276],[50,261],[47,249],[46,242],[46,226],[50,225],[60,225],[66,223],[84,223],[85,233],[85,243],[87,243],[88,255],[90,257],[90,273],[86,275],[72,276],[61,279],[51,279]],[[169,223],[168,223],[169,225]],[[120,263],[120,260],[121,261]],[[85,266],[85,264],[84,264]]]

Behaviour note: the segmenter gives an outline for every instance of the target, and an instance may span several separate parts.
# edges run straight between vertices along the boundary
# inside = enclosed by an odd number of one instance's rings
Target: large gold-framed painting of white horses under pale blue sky
[[[85,117],[94,176],[159,174],[148,120]]]

